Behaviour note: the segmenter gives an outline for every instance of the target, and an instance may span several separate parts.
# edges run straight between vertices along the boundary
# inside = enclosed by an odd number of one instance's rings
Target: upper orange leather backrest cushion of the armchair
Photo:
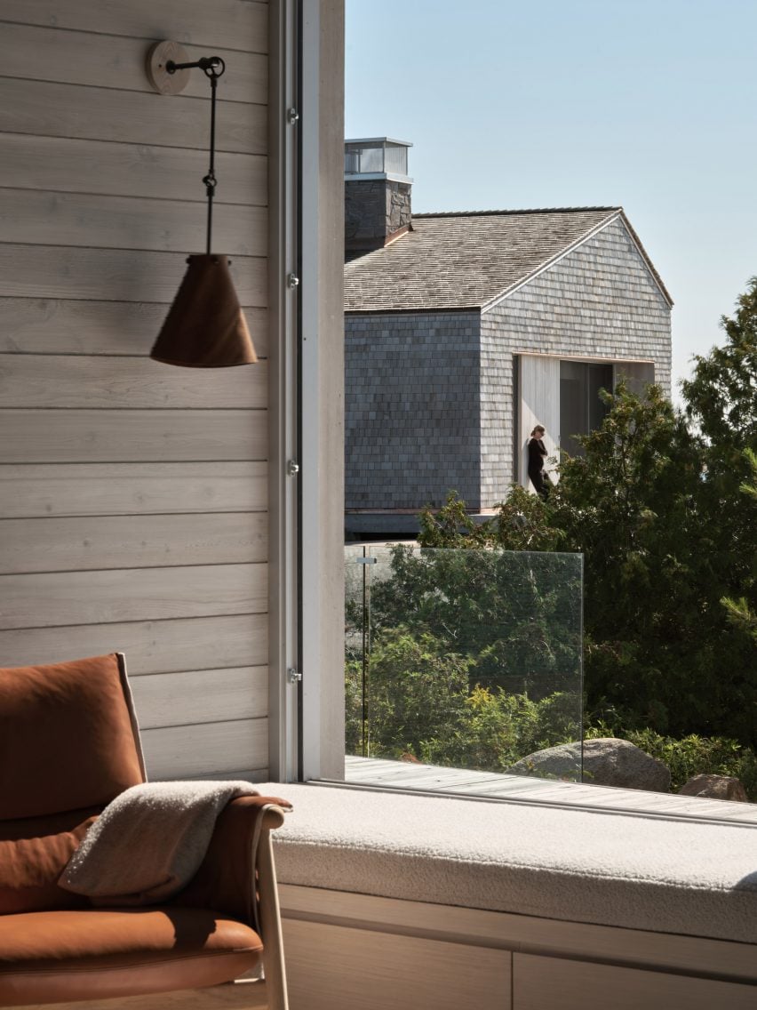
[[[0,670],[0,819],[102,807],[142,781],[115,654]]]

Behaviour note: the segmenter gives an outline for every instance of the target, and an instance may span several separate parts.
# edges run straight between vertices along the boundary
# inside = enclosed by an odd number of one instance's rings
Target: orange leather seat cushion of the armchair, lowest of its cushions
[[[214,986],[261,949],[249,926],[196,908],[0,916],[0,1006]]]

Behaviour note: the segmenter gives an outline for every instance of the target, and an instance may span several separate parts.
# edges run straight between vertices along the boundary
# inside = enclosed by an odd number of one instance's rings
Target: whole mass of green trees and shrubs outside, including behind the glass
[[[604,394],[547,501],[424,510],[371,594],[372,753],[502,771],[576,738],[580,553],[589,726],[757,788],[757,279],[723,328],[682,411],[656,386]]]

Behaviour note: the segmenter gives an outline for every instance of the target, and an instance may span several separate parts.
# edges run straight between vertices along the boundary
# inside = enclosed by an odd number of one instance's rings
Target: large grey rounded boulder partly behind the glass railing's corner
[[[561,743],[522,758],[511,775],[533,775],[540,779],[576,781],[580,777],[580,743]],[[628,740],[604,736],[583,741],[583,781],[594,786],[646,789],[667,793],[670,772]]]

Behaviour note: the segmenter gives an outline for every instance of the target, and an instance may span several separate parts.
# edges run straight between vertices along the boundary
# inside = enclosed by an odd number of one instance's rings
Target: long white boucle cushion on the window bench
[[[284,884],[757,942],[757,827],[266,784]],[[715,802],[715,801],[709,801]]]

